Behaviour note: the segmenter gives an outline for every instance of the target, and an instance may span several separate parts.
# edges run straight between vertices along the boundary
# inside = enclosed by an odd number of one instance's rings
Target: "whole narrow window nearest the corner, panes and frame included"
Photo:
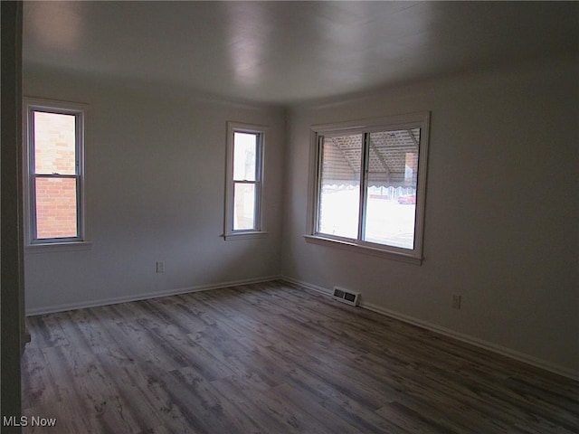
[[[261,216],[265,128],[227,124],[225,240],[265,234]]]

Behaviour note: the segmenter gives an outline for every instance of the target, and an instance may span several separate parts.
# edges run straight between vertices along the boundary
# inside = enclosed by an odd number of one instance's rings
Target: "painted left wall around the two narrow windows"
[[[284,110],[30,66],[24,72],[25,96],[90,105],[93,241],[89,250],[26,251],[29,313],[279,275]],[[264,239],[223,241],[230,120],[269,127]],[[164,273],[156,273],[157,260]]]

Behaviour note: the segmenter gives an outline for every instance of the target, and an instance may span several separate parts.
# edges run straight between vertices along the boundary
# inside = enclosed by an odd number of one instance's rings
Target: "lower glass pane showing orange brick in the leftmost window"
[[[77,184],[74,178],[36,178],[36,237],[77,234]]]

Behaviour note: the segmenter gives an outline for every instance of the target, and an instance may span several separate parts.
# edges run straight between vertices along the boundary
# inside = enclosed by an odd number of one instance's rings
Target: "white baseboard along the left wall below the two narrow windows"
[[[142,294],[135,294],[123,297],[109,297],[93,301],[81,301],[78,303],[66,303],[63,305],[54,305],[48,307],[37,307],[33,309],[26,309],[26,316],[35,316],[43,314],[54,314],[56,312],[65,312],[67,310],[84,309],[87,307],[100,307],[109,305],[118,305],[119,303],[128,303],[131,301],[147,300],[149,298],[177,296],[179,294],[188,294],[190,292],[208,291],[211,289],[229,288],[237,285],[249,285],[252,283],[269,282],[271,280],[280,279],[280,276],[270,276],[265,278],[246,278],[242,280],[232,280],[229,282],[214,283],[210,285],[198,285],[189,288],[169,289],[166,291],[153,291]]]

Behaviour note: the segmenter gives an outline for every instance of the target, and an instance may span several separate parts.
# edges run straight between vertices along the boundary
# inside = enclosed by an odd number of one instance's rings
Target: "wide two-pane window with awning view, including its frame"
[[[429,113],[313,127],[308,241],[422,261]]]

